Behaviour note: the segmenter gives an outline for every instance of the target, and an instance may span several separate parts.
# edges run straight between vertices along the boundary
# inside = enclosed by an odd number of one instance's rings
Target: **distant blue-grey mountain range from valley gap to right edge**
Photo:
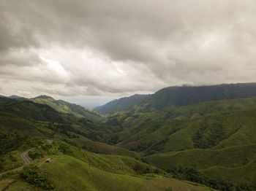
[[[94,110],[101,114],[113,114],[140,106],[140,112],[151,112],[162,108],[176,108],[203,101],[251,98],[256,96],[256,83],[238,83],[206,86],[165,87],[152,95],[132,95],[110,101]]]

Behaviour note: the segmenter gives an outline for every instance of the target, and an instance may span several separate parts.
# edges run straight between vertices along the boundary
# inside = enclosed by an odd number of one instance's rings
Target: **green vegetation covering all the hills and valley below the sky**
[[[132,101],[114,101],[103,121],[47,96],[0,98],[0,187],[256,190],[255,93],[255,84],[167,87],[125,111]],[[10,171],[31,147],[33,165]]]

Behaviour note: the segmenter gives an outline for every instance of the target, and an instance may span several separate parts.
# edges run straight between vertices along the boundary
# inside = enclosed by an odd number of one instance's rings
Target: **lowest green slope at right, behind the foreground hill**
[[[189,149],[166,152],[145,158],[148,163],[173,171],[178,168],[195,168],[218,181],[234,185],[256,186],[256,145],[227,147],[224,149]]]

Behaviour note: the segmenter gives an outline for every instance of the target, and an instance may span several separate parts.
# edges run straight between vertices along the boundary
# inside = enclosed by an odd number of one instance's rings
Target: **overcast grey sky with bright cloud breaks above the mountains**
[[[0,94],[93,108],[256,82],[255,0],[0,0]]]

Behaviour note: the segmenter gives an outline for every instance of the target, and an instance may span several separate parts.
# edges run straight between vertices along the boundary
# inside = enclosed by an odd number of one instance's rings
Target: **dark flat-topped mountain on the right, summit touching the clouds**
[[[148,96],[141,106],[146,111],[165,107],[186,106],[203,101],[217,101],[256,96],[256,83],[238,83],[208,86],[166,87]]]

